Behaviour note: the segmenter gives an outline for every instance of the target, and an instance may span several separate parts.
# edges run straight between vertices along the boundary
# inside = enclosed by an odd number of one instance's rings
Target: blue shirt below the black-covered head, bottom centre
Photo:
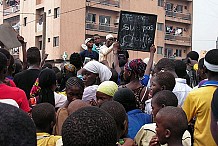
[[[140,109],[127,112],[128,115],[128,134],[127,137],[134,139],[140,128],[152,122],[151,115],[143,113]]]

